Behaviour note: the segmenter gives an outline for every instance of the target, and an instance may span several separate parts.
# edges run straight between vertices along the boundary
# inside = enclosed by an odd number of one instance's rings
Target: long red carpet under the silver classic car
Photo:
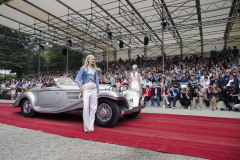
[[[66,137],[139,147],[208,159],[239,159],[240,119],[141,113],[120,118],[114,128],[84,133],[80,113],[39,114],[25,118],[20,108],[0,103],[0,123]]]

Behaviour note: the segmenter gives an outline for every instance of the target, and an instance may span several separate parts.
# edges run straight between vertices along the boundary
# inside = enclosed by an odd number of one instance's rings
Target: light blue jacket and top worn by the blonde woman
[[[79,87],[92,80],[97,85],[97,93],[99,93],[98,72],[94,67],[82,67],[75,79]]]

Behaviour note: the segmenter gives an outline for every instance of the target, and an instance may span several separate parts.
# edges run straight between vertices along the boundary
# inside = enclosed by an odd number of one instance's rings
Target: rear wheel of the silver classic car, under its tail
[[[24,117],[33,117],[36,112],[32,110],[32,104],[29,99],[25,98],[21,102],[21,112]]]

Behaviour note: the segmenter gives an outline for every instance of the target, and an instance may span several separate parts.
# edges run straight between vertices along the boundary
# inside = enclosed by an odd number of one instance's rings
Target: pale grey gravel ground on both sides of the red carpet
[[[0,101],[0,103],[10,101]],[[240,118],[240,112],[211,111],[188,109],[163,109],[148,107],[142,110],[145,113],[166,113],[181,115],[197,115],[210,117]],[[79,133],[81,134],[81,133]],[[107,143],[73,139],[44,133],[40,131],[19,128],[0,124],[0,159],[182,159],[195,160],[200,158],[183,155],[167,154],[146,149],[125,147]]]

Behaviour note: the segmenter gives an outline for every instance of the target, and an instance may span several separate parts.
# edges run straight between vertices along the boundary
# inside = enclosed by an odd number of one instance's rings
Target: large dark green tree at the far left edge
[[[31,73],[32,53],[26,45],[29,37],[3,26],[0,35],[0,68],[17,73],[17,77]]]

